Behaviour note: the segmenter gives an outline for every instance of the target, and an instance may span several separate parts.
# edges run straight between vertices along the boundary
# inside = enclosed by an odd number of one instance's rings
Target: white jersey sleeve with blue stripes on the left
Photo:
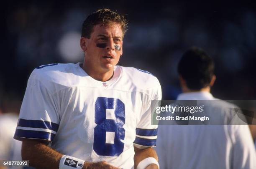
[[[14,139],[41,139],[53,141],[59,128],[59,105],[56,97],[38,79],[28,80],[26,93],[20,109],[20,115]]]

